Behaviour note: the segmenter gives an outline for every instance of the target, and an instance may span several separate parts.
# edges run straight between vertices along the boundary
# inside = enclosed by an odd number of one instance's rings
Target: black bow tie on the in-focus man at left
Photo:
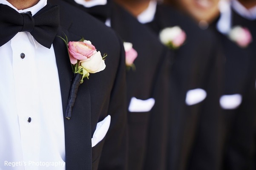
[[[51,48],[59,22],[59,6],[47,4],[32,17],[31,14],[20,14],[13,8],[0,4],[0,46],[18,32],[28,31],[41,45]]]

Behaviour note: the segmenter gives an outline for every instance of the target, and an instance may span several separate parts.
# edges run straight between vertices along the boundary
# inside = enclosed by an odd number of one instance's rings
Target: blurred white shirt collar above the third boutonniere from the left
[[[152,20],[154,20],[156,5],[157,5],[157,2],[155,0],[151,0],[147,9],[138,15],[137,17],[138,21],[140,23],[145,24],[145,23],[150,23]]]

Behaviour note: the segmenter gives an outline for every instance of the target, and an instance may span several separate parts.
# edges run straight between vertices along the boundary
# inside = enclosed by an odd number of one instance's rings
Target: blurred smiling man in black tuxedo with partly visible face
[[[198,23],[207,22],[213,30],[225,56],[224,91],[219,99],[223,113],[220,142],[224,143],[223,161],[219,169],[242,170],[252,169],[255,159],[255,126],[256,126],[256,91],[255,91],[255,57],[250,52],[251,33],[242,23],[233,25],[230,6],[227,1],[207,5],[208,12],[199,8],[205,6],[184,6],[180,8],[189,13]],[[186,1],[193,3],[192,0]],[[218,1],[216,1],[218,2]],[[192,10],[194,9],[194,10]],[[200,11],[201,10],[201,11]],[[193,12],[194,11],[194,12]],[[219,12],[221,14],[219,15]],[[201,15],[198,15],[201,14]]]

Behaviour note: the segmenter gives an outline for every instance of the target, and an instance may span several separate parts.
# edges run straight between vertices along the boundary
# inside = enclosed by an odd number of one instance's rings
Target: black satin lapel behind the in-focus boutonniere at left
[[[57,35],[69,41],[78,41],[81,37],[59,29]],[[91,103],[90,92],[86,79],[78,89],[71,119],[65,118],[68,103],[69,89],[72,82],[72,68],[69,61],[66,45],[60,37],[53,42],[56,62],[58,67],[60,90],[62,97],[65,145],[66,145],[66,170],[91,170],[92,169],[92,141],[91,141]]]

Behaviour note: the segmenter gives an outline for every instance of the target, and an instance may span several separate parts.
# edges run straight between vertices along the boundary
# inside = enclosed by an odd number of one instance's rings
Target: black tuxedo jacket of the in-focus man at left
[[[101,54],[108,54],[105,70],[90,74],[89,79],[84,80],[78,89],[71,119],[64,119],[66,170],[96,170],[99,164],[104,170],[125,169],[127,106],[123,45],[112,30],[83,11],[61,0],[48,2],[60,5],[59,36],[64,37],[66,34],[69,41],[78,41],[84,37],[90,40]],[[74,74],[63,40],[56,37],[53,46],[65,117]],[[107,115],[111,116],[109,130],[104,140],[92,147],[91,138],[96,125]],[[101,158],[104,158],[104,161],[101,161]]]

